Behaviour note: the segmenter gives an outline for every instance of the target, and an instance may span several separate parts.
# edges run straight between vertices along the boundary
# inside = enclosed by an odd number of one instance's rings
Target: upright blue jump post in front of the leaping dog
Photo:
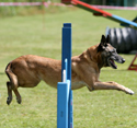
[[[61,81],[57,86],[57,128],[73,128],[71,91],[71,24],[62,27]]]

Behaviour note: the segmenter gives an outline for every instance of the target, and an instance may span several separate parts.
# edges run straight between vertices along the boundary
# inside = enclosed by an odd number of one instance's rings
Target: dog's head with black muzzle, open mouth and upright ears
[[[118,63],[124,63],[125,59],[122,58],[116,53],[116,49],[109,43],[110,43],[110,36],[107,35],[107,37],[105,38],[105,36],[102,35],[101,43],[99,44],[99,47],[98,47],[98,51],[101,53],[104,67],[112,67],[113,69],[117,69],[117,66],[115,65],[114,61]]]

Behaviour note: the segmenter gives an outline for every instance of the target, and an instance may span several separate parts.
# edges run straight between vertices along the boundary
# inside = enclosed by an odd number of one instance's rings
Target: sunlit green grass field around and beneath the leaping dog
[[[113,14],[133,20],[136,11],[114,11]],[[14,16],[0,20],[0,128],[56,128],[57,91],[41,82],[34,89],[19,89],[23,102],[19,105],[13,95],[7,101],[9,61],[22,55],[61,58],[62,23],[72,23],[72,55],[100,43],[105,27],[119,27],[115,22],[95,18],[90,12],[73,9],[59,13],[33,16]],[[87,88],[73,91],[75,128],[137,128],[137,72],[127,71],[135,55],[122,55],[126,62],[118,69],[102,69],[101,81],[116,81],[135,91],[130,96],[118,91],[89,92]]]

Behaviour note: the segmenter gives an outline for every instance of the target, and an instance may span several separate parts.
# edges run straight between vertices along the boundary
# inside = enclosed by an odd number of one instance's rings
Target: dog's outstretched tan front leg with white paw
[[[116,82],[100,82],[100,81],[94,82],[93,89],[94,90],[118,90],[118,91],[123,91],[130,95],[134,94],[134,92],[130,89],[125,88],[124,85],[121,85]]]

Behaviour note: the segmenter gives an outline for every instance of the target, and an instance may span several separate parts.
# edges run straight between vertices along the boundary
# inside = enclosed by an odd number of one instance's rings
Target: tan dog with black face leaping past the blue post
[[[101,42],[88,48],[79,56],[71,58],[71,89],[77,90],[87,86],[89,91],[95,90],[117,90],[133,95],[134,92],[116,82],[101,82],[99,80],[101,68],[112,67],[117,69],[115,61],[124,63],[116,49],[109,43],[110,36],[102,35]],[[25,55],[8,63],[5,73],[10,81],[7,82],[8,100],[12,102],[12,91],[16,95],[16,102],[21,104],[22,98],[18,88],[34,88],[41,80],[57,89],[57,83],[61,81],[61,60]]]

